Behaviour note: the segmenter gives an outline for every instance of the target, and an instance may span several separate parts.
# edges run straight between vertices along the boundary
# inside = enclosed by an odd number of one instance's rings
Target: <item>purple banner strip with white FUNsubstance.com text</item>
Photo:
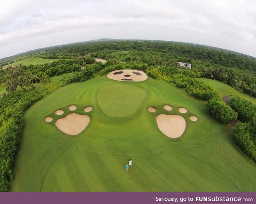
[[[256,192],[2,192],[2,204],[256,203]]]

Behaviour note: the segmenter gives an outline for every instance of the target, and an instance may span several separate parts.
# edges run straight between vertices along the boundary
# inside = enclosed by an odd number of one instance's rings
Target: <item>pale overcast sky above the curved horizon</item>
[[[255,0],[1,0],[0,58],[100,38],[194,42],[256,57]]]

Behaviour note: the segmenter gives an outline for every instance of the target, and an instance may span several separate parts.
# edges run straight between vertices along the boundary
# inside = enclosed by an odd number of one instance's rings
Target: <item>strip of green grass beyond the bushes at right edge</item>
[[[231,86],[228,86],[227,84],[224,84],[222,82],[219,82],[217,80],[212,80],[212,79],[206,79],[206,78],[199,78],[198,80],[205,82],[206,84],[209,84],[212,86],[219,94],[221,97],[224,96],[229,96],[229,95],[238,95],[241,96],[242,98],[256,104],[256,98],[249,96],[244,93],[240,93]]]

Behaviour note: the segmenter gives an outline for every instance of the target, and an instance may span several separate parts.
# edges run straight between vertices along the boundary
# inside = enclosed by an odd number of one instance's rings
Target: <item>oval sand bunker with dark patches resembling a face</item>
[[[130,82],[141,82],[148,78],[144,72],[138,70],[116,70],[110,72],[107,76],[113,80]]]

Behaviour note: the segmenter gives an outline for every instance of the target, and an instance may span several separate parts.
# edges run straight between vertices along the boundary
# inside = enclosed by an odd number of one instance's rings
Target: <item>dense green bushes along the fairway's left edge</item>
[[[13,178],[13,162],[20,142],[23,114],[46,95],[43,91],[16,91],[0,100],[0,191],[8,191]]]

